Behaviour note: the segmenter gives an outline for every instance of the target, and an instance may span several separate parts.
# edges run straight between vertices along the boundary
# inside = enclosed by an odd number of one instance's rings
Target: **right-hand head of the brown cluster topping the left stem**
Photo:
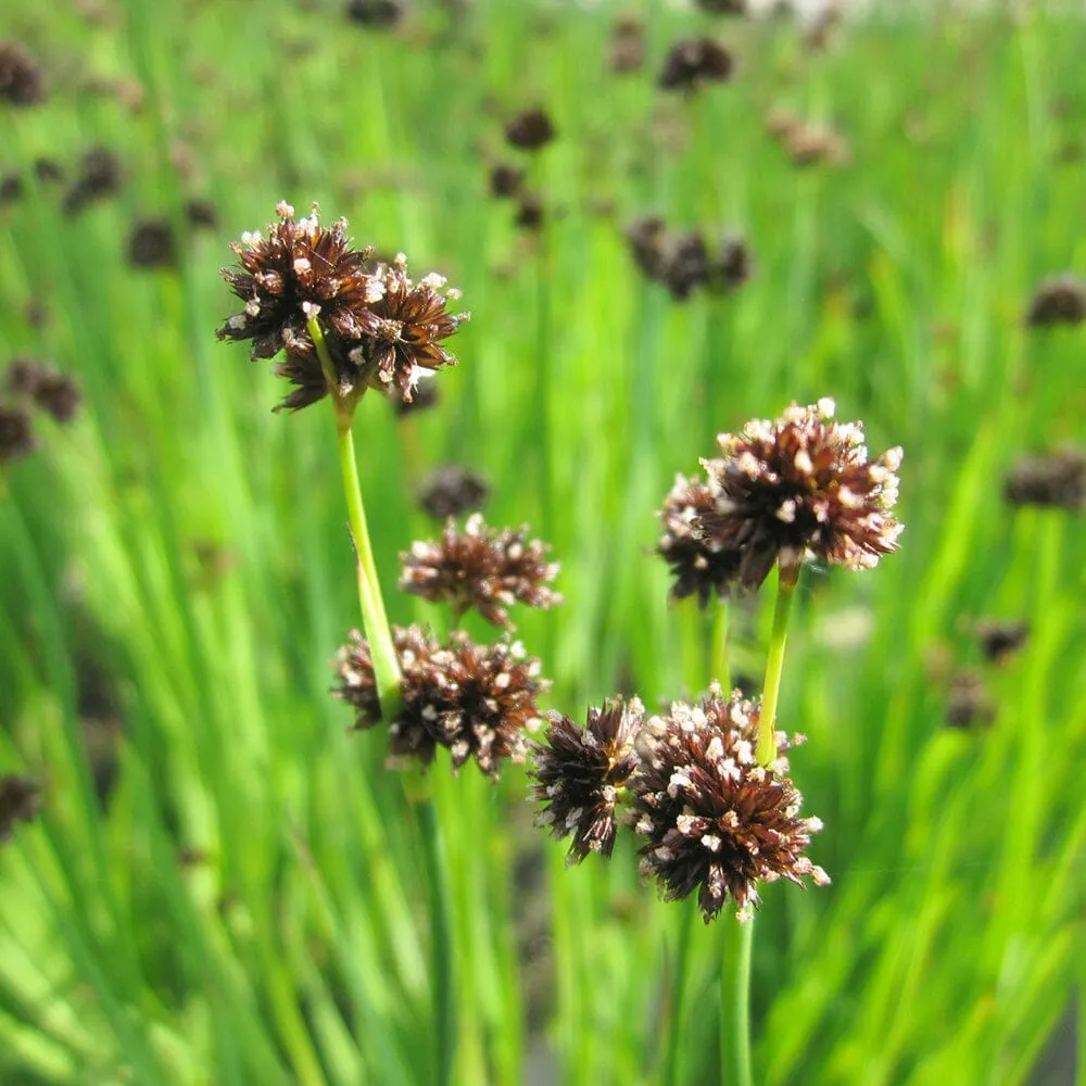
[[[445,280],[437,273],[413,282],[403,253],[391,264],[378,265],[376,275],[381,295],[361,316],[362,340],[348,356],[368,375],[370,386],[381,391],[395,389],[409,402],[420,371],[456,365],[456,356],[441,341],[470,319],[470,314],[445,311],[460,293],[444,290]]]

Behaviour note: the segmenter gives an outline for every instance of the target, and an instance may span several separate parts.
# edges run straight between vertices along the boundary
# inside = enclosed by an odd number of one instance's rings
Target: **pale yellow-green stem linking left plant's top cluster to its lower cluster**
[[[320,368],[328,382],[328,392],[336,411],[336,444],[339,451],[340,472],[343,476],[343,496],[346,498],[348,520],[351,525],[351,538],[354,541],[357,560],[362,624],[374,660],[374,679],[377,684],[377,697],[381,705],[381,716],[391,721],[396,718],[400,711],[400,661],[396,657],[395,644],[392,641],[389,619],[384,613],[381,585],[377,579],[374,548],[369,542],[369,529],[366,527],[366,508],[362,501],[358,464],[354,456],[351,419],[358,396],[354,393],[344,395],[339,391],[336,382],[336,367],[328,354],[328,346],[325,343],[317,318],[311,317],[306,327],[313,337],[317,357],[320,359]]]

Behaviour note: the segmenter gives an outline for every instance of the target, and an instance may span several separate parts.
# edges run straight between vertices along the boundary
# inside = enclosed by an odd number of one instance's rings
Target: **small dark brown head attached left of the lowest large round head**
[[[567,863],[589,853],[610,856],[618,829],[615,806],[619,790],[637,767],[634,747],[645,708],[637,698],[605,702],[589,708],[588,727],[559,712],[550,715],[546,744],[531,744],[529,776],[534,798],[543,805],[536,825],[550,826],[555,838],[572,837]]]

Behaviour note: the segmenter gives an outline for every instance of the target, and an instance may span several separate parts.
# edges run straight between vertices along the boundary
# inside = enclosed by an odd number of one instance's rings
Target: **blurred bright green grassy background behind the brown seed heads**
[[[622,17],[643,63],[615,71]],[[720,673],[652,555],[654,510],[719,431],[832,395],[873,453],[905,447],[900,553],[801,583],[780,719],[810,740],[793,770],[833,884],[766,889],[755,1079],[1086,1083],[1086,540],[1002,485],[1086,439],[1086,329],[1024,319],[1044,278],[1086,273],[1086,23],[887,5],[815,29],[652,0],[417,0],[389,27],[321,0],[5,8],[48,94],[0,105],[20,178],[0,367],[46,359],[85,401],[2,468],[0,773],[39,782],[42,809],[0,848],[0,1082],[433,1081],[419,829],[380,733],[349,733],[328,695],[358,623],[331,413],[273,415],[270,366],[214,338],[229,242],[287,199],[472,312],[438,406],[370,396],[357,417],[393,621],[443,621],[394,591],[397,553],[439,530],[414,501],[427,471],[482,471],[489,522],[531,525],[563,563],[565,605],[515,617],[574,719]],[[658,89],[702,35],[733,78]],[[555,140],[508,147],[536,105]],[[832,134],[823,161],[796,163],[785,121],[808,156]],[[92,149],[119,182],[73,207]],[[491,197],[500,163],[542,225]],[[673,299],[631,254],[645,215],[742,237],[753,276]],[[131,260],[149,217],[163,266]],[[754,685],[766,598],[731,623]],[[985,660],[983,618],[1028,622],[1025,647]],[[677,1081],[719,1081],[730,917],[692,932],[677,1020],[693,902],[641,886],[629,843],[565,871],[520,767],[433,776],[457,1081],[657,1083],[675,1036]]]

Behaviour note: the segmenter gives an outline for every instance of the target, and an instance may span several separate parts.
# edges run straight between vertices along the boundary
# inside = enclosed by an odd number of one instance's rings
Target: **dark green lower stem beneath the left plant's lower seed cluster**
[[[456,1010],[453,1003],[453,924],[452,888],[445,864],[441,824],[433,799],[416,803],[422,847],[426,854],[427,883],[430,889],[430,954],[433,960],[434,1055],[437,1086],[451,1086],[456,1065]]]

